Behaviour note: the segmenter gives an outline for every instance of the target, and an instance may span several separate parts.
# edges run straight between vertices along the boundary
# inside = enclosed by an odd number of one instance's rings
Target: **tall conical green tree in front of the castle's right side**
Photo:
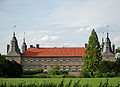
[[[83,57],[83,70],[93,75],[93,72],[97,71],[97,66],[101,59],[100,43],[93,29],[89,37],[88,45],[86,46],[85,56]]]

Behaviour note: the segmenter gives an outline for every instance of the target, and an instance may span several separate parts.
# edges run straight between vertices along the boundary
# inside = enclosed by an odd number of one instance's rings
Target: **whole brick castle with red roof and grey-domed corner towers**
[[[82,71],[85,47],[42,48],[36,44],[36,47],[30,45],[30,48],[27,49],[24,38],[21,49],[22,52],[20,52],[18,41],[13,33],[10,45],[7,45],[6,59],[15,60],[22,65],[23,70],[43,68],[44,72],[47,72],[53,66],[59,65],[60,70],[67,70],[69,74],[79,75]],[[103,60],[115,61],[108,35],[102,44],[102,50]]]

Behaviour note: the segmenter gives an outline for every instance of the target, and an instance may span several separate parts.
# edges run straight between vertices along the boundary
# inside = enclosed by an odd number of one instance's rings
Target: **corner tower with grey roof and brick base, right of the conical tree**
[[[109,33],[107,33],[107,38],[105,39],[104,42],[102,59],[105,61],[115,61],[115,55],[111,49],[111,41],[109,39]]]

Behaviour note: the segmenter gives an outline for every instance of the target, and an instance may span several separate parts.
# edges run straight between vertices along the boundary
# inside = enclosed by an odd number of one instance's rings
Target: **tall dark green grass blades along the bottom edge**
[[[47,82],[44,81],[43,83],[19,83],[19,84],[12,84],[12,83],[1,83],[0,87],[94,87],[92,85],[89,84],[81,84],[80,83],[81,80],[78,80],[76,82],[73,82],[72,80],[69,81],[68,84],[65,84],[65,81],[62,80],[60,83],[54,83],[54,82]],[[72,84],[73,83],[73,84]],[[98,87],[120,87],[120,83],[117,84],[116,86],[110,85],[108,79],[106,80],[106,82],[100,82]]]

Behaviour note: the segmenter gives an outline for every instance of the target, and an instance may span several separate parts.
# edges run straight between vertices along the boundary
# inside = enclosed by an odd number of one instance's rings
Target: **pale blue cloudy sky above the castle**
[[[107,26],[120,46],[120,0],[0,0],[0,53],[14,31],[20,48],[24,32],[28,47],[83,47],[93,28],[101,42]]]

